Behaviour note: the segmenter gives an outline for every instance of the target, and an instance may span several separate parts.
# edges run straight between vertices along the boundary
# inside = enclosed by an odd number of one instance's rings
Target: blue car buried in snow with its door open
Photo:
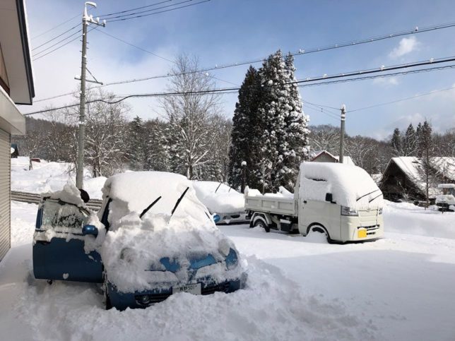
[[[34,236],[36,278],[102,282],[107,309],[121,310],[177,292],[244,287],[247,275],[235,246],[187,178],[129,172],[107,179],[102,191],[98,215],[67,194],[45,198]]]

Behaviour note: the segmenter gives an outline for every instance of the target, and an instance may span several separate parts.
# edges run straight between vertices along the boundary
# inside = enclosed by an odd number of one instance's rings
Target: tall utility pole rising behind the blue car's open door
[[[83,172],[84,172],[84,143],[85,143],[85,71],[87,70],[87,27],[90,23],[99,26],[105,26],[106,20],[100,23],[100,18],[96,20],[93,16],[88,16],[87,5],[95,7],[96,4],[91,1],[85,2],[82,16],[82,63],[81,63],[81,104],[79,107],[79,136],[78,136],[78,159],[76,162],[76,187],[83,189]],[[76,78],[77,79],[77,78]],[[95,83],[98,83],[95,82]]]

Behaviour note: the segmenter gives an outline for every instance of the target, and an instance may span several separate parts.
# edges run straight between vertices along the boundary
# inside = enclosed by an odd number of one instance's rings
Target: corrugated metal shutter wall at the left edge
[[[11,247],[11,136],[0,129],[0,260]]]

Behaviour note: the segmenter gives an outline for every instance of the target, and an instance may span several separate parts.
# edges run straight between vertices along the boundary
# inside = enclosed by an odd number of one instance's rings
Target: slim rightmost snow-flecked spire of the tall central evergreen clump
[[[295,179],[299,171],[300,163],[308,159],[309,147],[307,128],[309,117],[302,112],[302,97],[297,88],[295,78],[294,57],[291,54],[285,56],[285,67],[288,71],[290,112],[285,116],[285,140],[280,143],[280,152],[283,154],[283,171],[280,183],[289,191],[293,191]],[[278,141],[279,143],[279,141]]]

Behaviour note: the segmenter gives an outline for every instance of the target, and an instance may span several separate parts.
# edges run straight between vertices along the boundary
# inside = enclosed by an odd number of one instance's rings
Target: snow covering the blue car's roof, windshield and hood
[[[210,265],[211,277],[218,280],[239,277],[240,265],[227,271],[224,263],[230,248],[235,246],[215,227],[186,177],[164,172],[118,174],[107,179],[103,193],[112,202],[110,228],[101,255],[108,280],[120,292],[187,282],[190,261],[209,255],[216,261]],[[160,196],[141,218],[143,210]],[[179,266],[170,271],[162,258]]]

